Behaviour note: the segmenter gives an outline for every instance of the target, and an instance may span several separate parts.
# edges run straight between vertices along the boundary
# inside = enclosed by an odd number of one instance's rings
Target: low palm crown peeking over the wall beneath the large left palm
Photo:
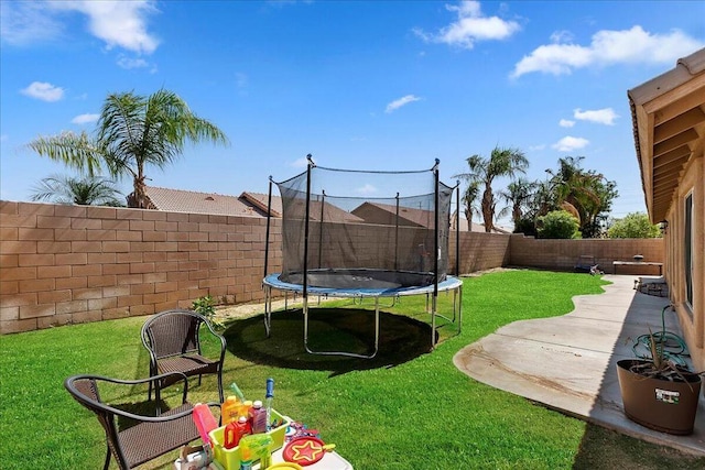
[[[115,182],[100,176],[52,175],[40,181],[31,198],[55,204],[119,207],[124,206],[117,197],[121,195]]]

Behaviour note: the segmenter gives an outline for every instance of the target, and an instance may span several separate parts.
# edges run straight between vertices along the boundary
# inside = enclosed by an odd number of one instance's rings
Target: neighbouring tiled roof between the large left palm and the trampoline
[[[148,186],[147,196],[156,210],[245,217],[263,217],[267,214],[246,200],[216,193]]]

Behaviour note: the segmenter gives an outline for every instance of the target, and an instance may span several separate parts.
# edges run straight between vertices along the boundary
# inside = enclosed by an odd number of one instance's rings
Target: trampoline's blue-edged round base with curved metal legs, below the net
[[[271,335],[272,328],[272,289],[284,293],[288,298],[289,293],[294,295],[302,294],[303,315],[304,315],[304,348],[311,354],[322,356],[347,356],[351,358],[372,359],[379,351],[379,299],[382,297],[392,297],[398,299],[403,296],[426,295],[426,313],[431,314],[431,349],[436,346],[436,317],[441,317],[447,321],[458,323],[458,335],[463,326],[463,281],[458,277],[447,276],[445,281],[437,284],[426,286],[411,286],[399,288],[332,288],[307,286],[307,294],[318,297],[333,298],[352,298],[352,299],[375,299],[375,348],[370,354],[360,354],[349,351],[318,351],[313,350],[308,346],[308,295],[304,295],[304,286],[302,284],[291,284],[279,278],[280,273],[269,274],[262,280],[264,286],[264,329],[267,337]],[[436,291],[437,288],[437,291]],[[453,292],[453,318],[445,317],[437,313],[437,292]],[[429,303],[431,299],[431,308]],[[286,306],[284,307],[286,309]],[[429,311],[430,310],[430,311]]]

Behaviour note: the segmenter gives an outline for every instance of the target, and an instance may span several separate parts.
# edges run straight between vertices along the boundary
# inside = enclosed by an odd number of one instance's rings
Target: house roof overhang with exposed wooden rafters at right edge
[[[628,92],[647,210],[664,220],[683,168],[703,155],[705,48]]]

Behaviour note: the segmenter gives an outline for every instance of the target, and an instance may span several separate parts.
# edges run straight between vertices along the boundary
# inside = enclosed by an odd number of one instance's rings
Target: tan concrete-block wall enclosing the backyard
[[[371,243],[367,253],[378,256],[382,238],[370,230],[382,229],[356,230]],[[402,237],[415,237],[406,231]],[[0,334],[151,315],[189,307],[204,295],[261,300],[265,232],[267,219],[258,217],[0,201]],[[281,220],[272,219],[270,273],[281,271]],[[451,271],[455,252],[452,233]],[[590,254],[611,272],[611,261],[637,253],[663,261],[663,241],[462,232],[459,264],[460,273],[507,265],[572,270],[577,256]]]

